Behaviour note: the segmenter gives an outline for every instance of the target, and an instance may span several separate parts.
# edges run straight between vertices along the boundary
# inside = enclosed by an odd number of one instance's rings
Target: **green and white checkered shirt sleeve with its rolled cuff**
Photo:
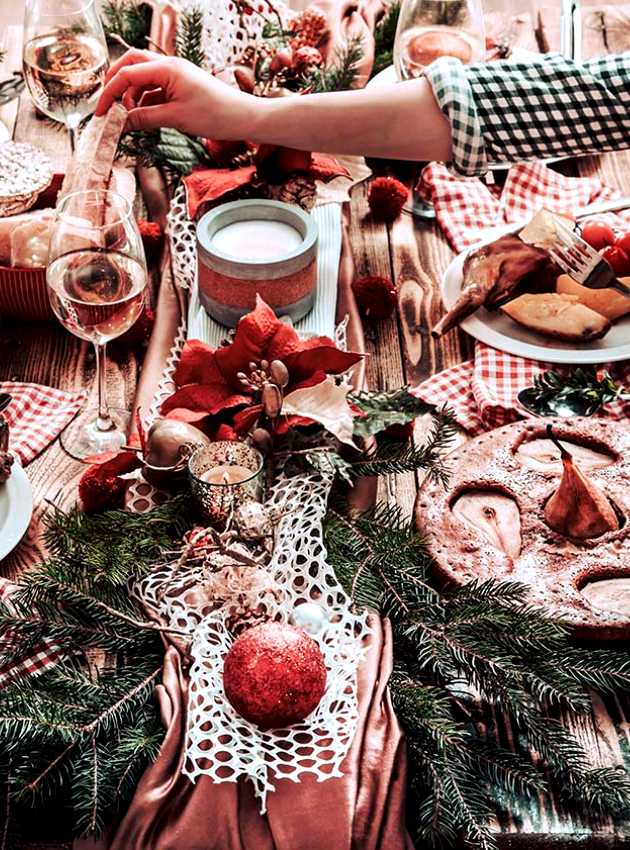
[[[578,64],[559,55],[426,70],[451,121],[453,168],[578,156],[630,147],[630,52]]]

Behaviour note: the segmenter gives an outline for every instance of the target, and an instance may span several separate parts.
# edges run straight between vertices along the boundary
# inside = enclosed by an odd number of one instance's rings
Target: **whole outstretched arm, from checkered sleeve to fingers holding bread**
[[[490,162],[630,146],[630,53],[584,65],[549,56],[464,66],[444,57],[418,80],[269,99],[184,60],[132,51],[110,70],[97,114],[117,97],[130,109],[131,129],[177,127],[214,139],[439,160],[470,175]]]

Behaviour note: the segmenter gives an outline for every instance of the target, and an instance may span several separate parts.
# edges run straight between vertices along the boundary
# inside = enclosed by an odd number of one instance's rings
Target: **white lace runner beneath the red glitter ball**
[[[233,641],[224,623],[229,604],[214,611],[202,595],[190,592],[203,582],[201,568],[160,568],[143,579],[137,595],[174,629],[191,637],[192,665],[188,692],[188,731],[183,772],[193,782],[248,777],[261,811],[275,782],[299,782],[304,774],[318,781],[342,775],[358,720],[357,667],[369,633],[367,614],[355,614],[350,599],[327,562],[322,520],[332,479],[323,475],[283,478],[267,502],[281,514],[267,569],[278,593],[265,595],[267,614],[288,622],[295,605],[322,605],[329,623],[315,636],[327,669],[326,692],[302,723],[267,732],[240,717],[223,690],[223,659]],[[163,589],[168,587],[168,593]]]

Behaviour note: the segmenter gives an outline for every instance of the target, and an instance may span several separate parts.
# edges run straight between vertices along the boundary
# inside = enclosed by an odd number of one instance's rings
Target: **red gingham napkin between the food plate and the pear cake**
[[[630,363],[604,365],[612,377],[630,384]],[[533,384],[547,369],[568,374],[568,366],[555,366],[497,351],[482,342],[475,344],[475,359],[438,372],[415,389],[415,395],[438,407],[448,406],[455,420],[469,434],[480,434],[526,417],[518,405],[520,390]],[[630,418],[630,402],[616,401],[601,410],[610,419]]]

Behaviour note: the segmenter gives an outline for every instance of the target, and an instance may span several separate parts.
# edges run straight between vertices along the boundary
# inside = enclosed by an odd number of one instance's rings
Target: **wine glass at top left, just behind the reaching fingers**
[[[24,79],[39,110],[68,128],[72,150],[96,106],[108,66],[95,0],[26,0]]]

